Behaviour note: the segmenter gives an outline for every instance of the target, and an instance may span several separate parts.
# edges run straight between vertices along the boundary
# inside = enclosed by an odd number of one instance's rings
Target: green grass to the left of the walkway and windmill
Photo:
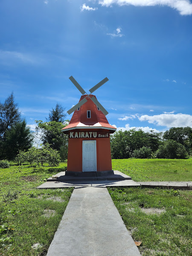
[[[9,169],[0,169],[0,255],[46,255],[73,189],[36,187],[66,166],[67,163],[62,163],[59,167],[35,169],[12,165]],[[44,210],[55,212],[45,216]],[[32,249],[36,243],[42,247]]]

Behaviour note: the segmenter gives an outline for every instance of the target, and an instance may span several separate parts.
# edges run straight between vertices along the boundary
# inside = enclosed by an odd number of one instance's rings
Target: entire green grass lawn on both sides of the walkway
[[[136,181],[192,180],[192,159],[112,160]],[[66,170],[12,164],[0,169],[0,256],[45,256],[73,189],[36,189]],[[109,188],[111,197],[145,256],[191,256],[192,193],[163,189]],[[147,208],[163,212],[148,214]],[[157,210],[157,209],[156,209]],[[152,209],[152,211],[156,211]],[[32,248],[34,244],[39,246]]]

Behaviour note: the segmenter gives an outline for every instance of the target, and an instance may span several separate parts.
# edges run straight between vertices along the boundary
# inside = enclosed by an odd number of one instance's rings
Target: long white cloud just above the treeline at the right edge
[[[188,114],[160,114],[154,116],[143,115],[138,117],[140,121],[147,121],[148,123],[170,127],[192,127],[192,116]]]

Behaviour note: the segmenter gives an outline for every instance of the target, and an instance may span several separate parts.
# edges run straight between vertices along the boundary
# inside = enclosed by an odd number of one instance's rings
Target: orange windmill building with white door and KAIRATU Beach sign
[[[66,175],[81,172],[112,173],[110,134],[116,128],[105,117],[108,111],[91,94],[107,82],[108,78],[92,87],[90,94],[84,91],[73,76],[69,79],[82,96],[79,103],[67,111],[68,114],[74,113],[69,125],[61,130],[69,135]]]

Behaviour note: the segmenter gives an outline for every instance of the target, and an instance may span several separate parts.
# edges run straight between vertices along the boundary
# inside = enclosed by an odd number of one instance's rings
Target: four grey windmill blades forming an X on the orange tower
[[[81,85],[76,81],[76,79],[73,78],[73,76],[70,76],[69,79],[72,81],[72,83],[76,86],[76,88],[80,91],[82,95],[86,93],[86,91],[81,87]],[[101,87],[103,84],[105,84],[109,79],[105,77],[102,81],[100,81],[98,84],[93,86],[89,91],[90,94],[96,91],[99,87]],[[98,102],[98,100],[95,97],[90,97],[90,94],[86,93],[86,97],[82,99],[79,103],[77,103],[73,108],[67,111],[67,113],[70,115],[73,113],[76,109],[80,108],[85,102],[87,102],[87,98],[90,98],[95,105],[104,113],[105,116],[107,116],[108,111]]]

